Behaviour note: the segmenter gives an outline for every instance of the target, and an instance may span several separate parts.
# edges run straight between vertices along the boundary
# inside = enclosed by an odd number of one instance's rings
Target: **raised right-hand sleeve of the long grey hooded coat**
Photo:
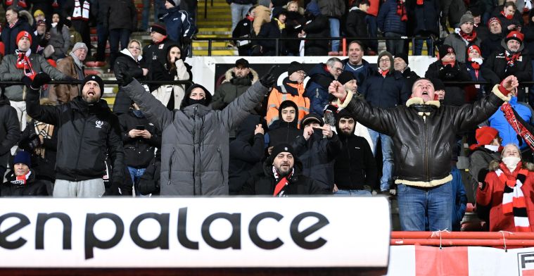
[[[265,92],[267,92],[267,87],[260,82],[252,84],[245,93],[229,103],[222,111],[218,111],[220,123],[228,130],[234,129],[260,103]]]

